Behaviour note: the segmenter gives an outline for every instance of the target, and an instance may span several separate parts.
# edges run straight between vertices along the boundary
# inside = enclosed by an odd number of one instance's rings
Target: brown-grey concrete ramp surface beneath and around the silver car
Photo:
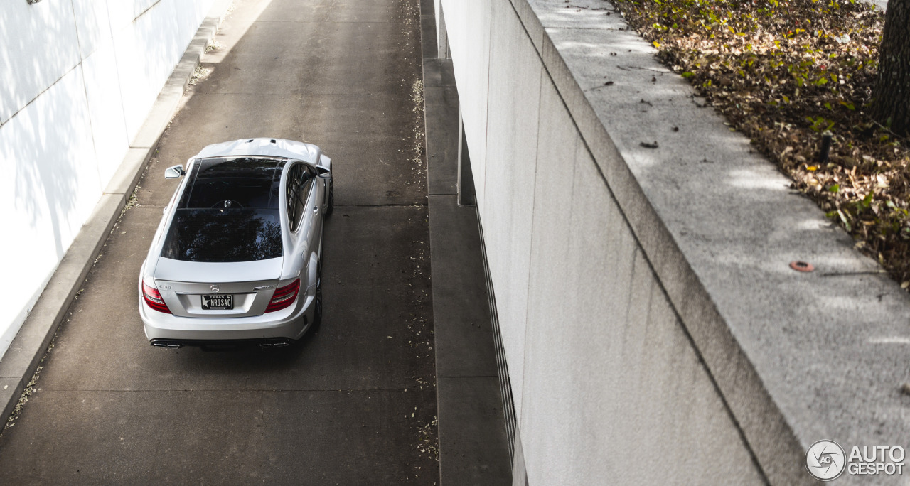
[[[236,1],[0,438],[0,483],[438,481],[418,3]],[[323,323],[291,349],[151,348],[136,278],[164,168],[240,137],[332,157]]]

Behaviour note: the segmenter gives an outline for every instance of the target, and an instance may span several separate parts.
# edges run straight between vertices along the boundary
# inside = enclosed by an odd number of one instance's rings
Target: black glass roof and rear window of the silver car
[[[161,256],[238,262],[282,255],[278,186],[284,161],[204,159],[177,203]]]

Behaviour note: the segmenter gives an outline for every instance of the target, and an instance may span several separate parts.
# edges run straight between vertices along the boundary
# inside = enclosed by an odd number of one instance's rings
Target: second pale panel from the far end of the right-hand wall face
[[[515,411],[521,415],[521,377],[531,260],[537,128],[543,65],[507,2],[493,4],[487,157],[480,220],[490,278],[499,307]],[[473,160],[471,161],[473,162]],[[544,167],[546,163],[544,162]]]

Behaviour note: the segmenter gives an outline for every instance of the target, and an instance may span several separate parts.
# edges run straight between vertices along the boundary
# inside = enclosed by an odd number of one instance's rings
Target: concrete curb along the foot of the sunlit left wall
[[[25,387],[45,356],[45,349],[80,292],[95,257],[105,244],[139,177],[155,153],[158,140],[171,118],[177,115],[180,100],[189,86],[208,41],[215,36],[231,0],[215,0],[206,18],[187,46],[184,55],[167,78],[148,112],[146,121],[130,144],[114,177],[98,199],[92,215],[79,230],[76,239],[48,280],[41,297],[28,314],[22,328],[0,359],[0,403],[3,417],[9,417]]]

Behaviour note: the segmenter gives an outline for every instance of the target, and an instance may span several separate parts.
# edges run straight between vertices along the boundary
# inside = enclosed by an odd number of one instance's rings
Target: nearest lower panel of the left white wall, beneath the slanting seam
[[[4,351],[101,193],[85,93],[76,67],[0,128]]]

